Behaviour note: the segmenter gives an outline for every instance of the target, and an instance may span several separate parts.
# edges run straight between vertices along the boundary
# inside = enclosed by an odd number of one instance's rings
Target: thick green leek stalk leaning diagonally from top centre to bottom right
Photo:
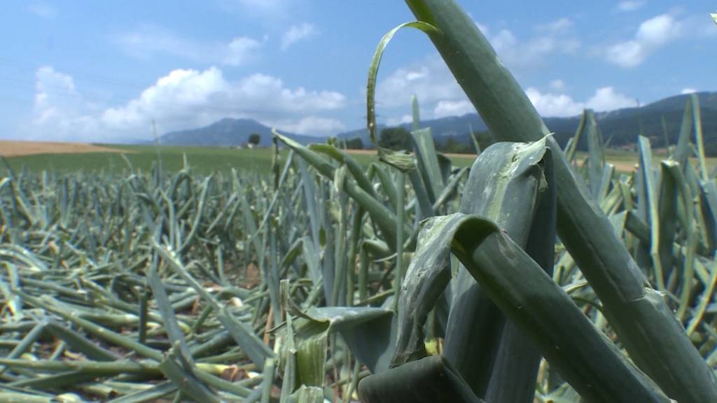
[[[550,131],[511,72],[455,1],[406,0],[419,21],[440,30],[429,34],[458,84],[499,141],[536,141]],[[550,139],[550,146],[559,149]],[[640,368],[679,402],[717,401],[717,379],[650,288],[612,224],[556,153],[558,231],[604,304],[620,341]]]

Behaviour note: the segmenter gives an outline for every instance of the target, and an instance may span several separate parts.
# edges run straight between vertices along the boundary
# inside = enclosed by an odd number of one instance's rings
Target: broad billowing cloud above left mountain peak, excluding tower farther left
[[[204,125],[227,116],[255,118],[285,128],[291,122],[298,125],[300,116],[343,108],[344,103],[341,93],[291,89],[280,78],[270,75],[253,74],[229,82],[221,70],[212,67],[201,72],[174,70],[138,98],[106,110],[102,118],[113,128],[131,128],[156,118],[166,126],[165,131]],[[318,118],[304,120],[297,127],[309,131],[312,122],[320,123],[316,129],[322,134],[328,127],[326,121]]]

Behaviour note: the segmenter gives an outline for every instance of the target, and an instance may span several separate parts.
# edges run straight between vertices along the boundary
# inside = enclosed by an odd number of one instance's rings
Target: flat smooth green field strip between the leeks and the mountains
[[[153,163],[161,160],[163,169],[179,171],[183,166],[184,156],[191,169],[197,174],[210,174],[214,171],[249,170],[267,172],[271,168],[272,149],[237,149],[229,147],[182,147],[182,146],[118,146],[103,144],[105,147],[119,148],[126,153],[70,153],[70,154],[36,154],[32,156],[15,156],[7,158],[12,169],[19,171],[26,168],[29,171],[57,171],[72,173],[81,171],[107,171],[121,173],[128,169],[128,163],[123,155],[132,164],[133,169],[147,171]],[[282,156],[288,151],[282,148]],[[359,163],[368,166],[377,161],[374,153],[353,154]],[[453,157],[456,166],[469,166],[475,156]],[[5,168],[0,168],[4,174]]]

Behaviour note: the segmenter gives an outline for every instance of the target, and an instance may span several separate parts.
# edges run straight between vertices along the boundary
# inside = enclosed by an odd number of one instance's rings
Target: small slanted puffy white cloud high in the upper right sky
[[[620,67],[636,67],[650,53],[680,37],[682,24],[669,14],[662,14],[640,24],[635,37],[609,46],[605,52],[608,62]]]

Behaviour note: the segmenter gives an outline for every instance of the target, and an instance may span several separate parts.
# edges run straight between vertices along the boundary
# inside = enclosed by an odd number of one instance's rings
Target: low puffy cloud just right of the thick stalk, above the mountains
[[[535,87],[529,87],[526,95],[536,107],[538,113],[545,117],[566,117],[579,115],[589,108],[602,112],[635,106],[635,100],[617,93],[614,87],[600,87],[585,102],[579,102],[564,93],[542,93]]]

